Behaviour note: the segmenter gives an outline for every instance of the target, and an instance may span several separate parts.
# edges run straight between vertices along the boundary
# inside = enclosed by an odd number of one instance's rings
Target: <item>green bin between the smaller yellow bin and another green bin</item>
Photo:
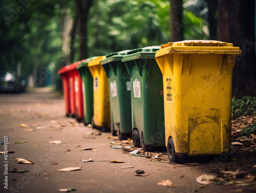
[[[111,53],[100,62],[109,78],[111,133],[117,134],[119,140],[132,134],[131,79],[121,61],[129,51]]]

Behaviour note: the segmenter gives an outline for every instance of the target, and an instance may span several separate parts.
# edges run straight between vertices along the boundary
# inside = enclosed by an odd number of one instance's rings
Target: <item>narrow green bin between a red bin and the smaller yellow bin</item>
[[[83,122],[84,125],[91,123],[93,117],[93,77],[88,68],[88,62],[95,59],[91,57],[81,62],[77,70],[82,78],[82,97],[83,97]]]

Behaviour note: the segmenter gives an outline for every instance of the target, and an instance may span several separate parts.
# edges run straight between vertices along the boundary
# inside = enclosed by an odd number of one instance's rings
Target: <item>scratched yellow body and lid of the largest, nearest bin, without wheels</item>
[[[232,70],[240,54],[232,44],[205,40],[168,43],[156,51],[165,142],[172,137],[179,156],[230,152]]]

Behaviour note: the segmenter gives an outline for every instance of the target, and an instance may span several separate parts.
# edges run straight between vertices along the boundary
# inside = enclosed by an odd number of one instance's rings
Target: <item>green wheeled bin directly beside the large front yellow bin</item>
[[[131,77],[133,145],[144,151],[165,146],[163,81],[155,59],[159,49],[136,49],[122,59]]]

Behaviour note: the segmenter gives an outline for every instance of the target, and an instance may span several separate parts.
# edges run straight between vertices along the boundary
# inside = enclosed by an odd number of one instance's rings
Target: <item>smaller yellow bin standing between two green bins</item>
[[[109,80],[100,61],[106,56],[99,56],[88,63],[89,70],[93,76],[93,110],[92,127],[109,129],[110,119],[110,93]]]

